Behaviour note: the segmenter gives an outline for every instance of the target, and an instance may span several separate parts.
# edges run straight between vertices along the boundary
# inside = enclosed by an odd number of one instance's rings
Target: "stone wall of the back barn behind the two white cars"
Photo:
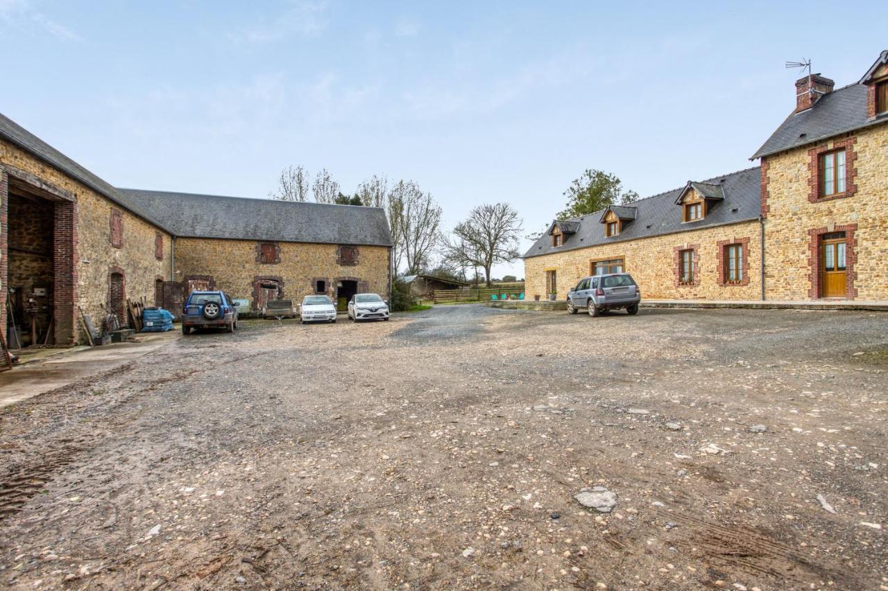
[[[269,259],[273,262],[262,263],[262,243],[269,242],[178,238],[176,280],[212,278],[216,288],[250,302],[260,278],[281,282],[283,297],[294,302],[313,295],[318,280],[324,281],[324,293],[333,297],[337,279],[343,278],[357,280],[361,290],[388,297],[388,247],[355,246],[356,256],[351,259],[344,258],[336,244],[274,242],[274,256]]]

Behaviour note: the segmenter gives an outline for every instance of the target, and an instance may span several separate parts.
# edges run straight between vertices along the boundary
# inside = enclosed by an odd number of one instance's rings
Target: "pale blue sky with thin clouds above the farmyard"
[[[264,198],[302,165],[530,233],[583,169],[644,197],[754,166],[784,62],[839,88],[888,48],[884,0],[647,4],[0,0],[0,112],[117,186]]]

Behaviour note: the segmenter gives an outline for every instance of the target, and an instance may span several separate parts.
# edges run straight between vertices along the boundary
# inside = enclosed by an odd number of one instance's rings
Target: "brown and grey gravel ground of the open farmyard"
[[[242,325],[0,412],[0,587],[888,585],[884,313]]]

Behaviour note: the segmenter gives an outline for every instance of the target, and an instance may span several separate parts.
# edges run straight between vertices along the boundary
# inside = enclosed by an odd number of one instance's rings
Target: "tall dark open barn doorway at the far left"
[[[7,342],[13,349],[55,344],[54,203],[10,189]]]

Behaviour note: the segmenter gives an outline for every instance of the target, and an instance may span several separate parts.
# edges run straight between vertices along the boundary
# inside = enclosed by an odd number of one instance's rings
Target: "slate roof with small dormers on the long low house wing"
[[[636,209],[636,217],[624,224],[622,231],[616,236],[605,235],[604,225],[599,222],[602,212],[605,211],[602,209],[571,220],[579,222],[580,228],[575,234],[567,236],[563,246],[553,247],[551,237],[545,233],[527,250],[524,258],[673,232],[686,232],[715,225],[736,224],[758,218],[761,210],[761,169],[759,167],[739,170],[702,182],[722,187],[725,194],[724,200],[714,201],[710,205],[706,217],[702,220],[682,222],[681,209],[675,204],[678,195],[685,188],[681,187],[633,202],[631,207]]]

